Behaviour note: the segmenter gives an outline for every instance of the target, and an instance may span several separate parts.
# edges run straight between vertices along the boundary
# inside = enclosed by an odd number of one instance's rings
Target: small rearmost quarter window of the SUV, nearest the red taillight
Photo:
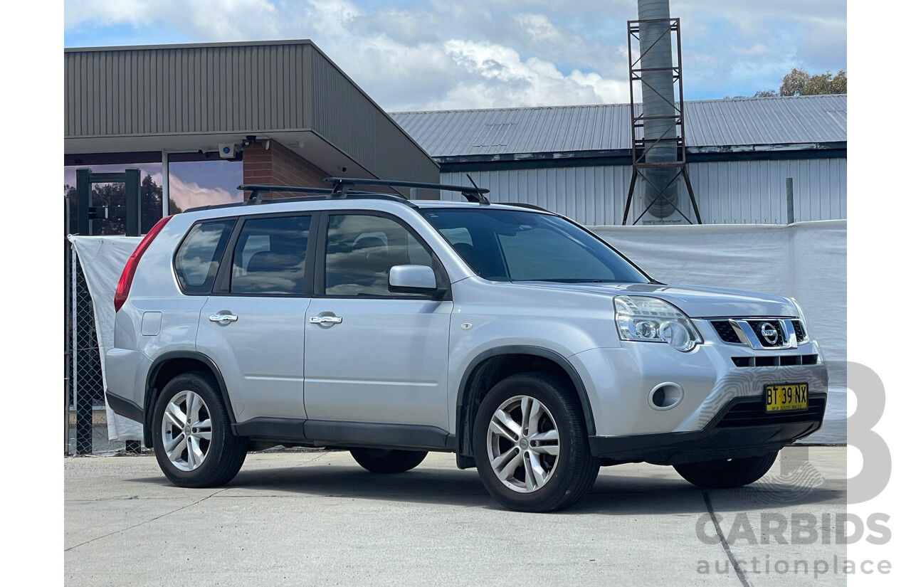
[[[234,218],[212,220],[189,229],[174,257],[174,269],[184,293],[208,294],[212,290],[235,222]]]

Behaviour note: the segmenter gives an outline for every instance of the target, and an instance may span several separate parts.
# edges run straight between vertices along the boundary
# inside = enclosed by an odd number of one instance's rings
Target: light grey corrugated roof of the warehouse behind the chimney
[[[687,147],[847,140],[847,95],[686,102]],[[640,106],[636,105],[637,111]],[[630,106],[544,106],[396,112],[433,157],[630,148]]]

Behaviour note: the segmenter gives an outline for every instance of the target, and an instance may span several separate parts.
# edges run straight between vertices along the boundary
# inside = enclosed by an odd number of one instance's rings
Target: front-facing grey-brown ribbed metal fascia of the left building
[[[64,137],[312,126],[308,45],[64,53]]]

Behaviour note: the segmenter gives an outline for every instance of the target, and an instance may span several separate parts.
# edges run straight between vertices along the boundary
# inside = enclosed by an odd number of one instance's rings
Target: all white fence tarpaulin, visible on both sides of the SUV
[[[811,440],[844,442],[846,388],[847,221],[780,225],[701,225],[592,228],[665,283],[747,289],[795,298],[830,370],[823,430]],[[114,342],[114,290],[139,238],[70,237],[95,308],[101,352]],[[107,384],[105,385],[107,390]],[[107,410],[111,440],[141,440],[142,428]]]

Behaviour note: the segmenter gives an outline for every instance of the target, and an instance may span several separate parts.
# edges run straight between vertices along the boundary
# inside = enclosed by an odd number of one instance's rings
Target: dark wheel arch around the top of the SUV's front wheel
[[[578,371],[558,352],[543,347],[509,345],[487,349],[472,359],[459,383],[455,401],[456,454],[473,456],[471,432],[477,408],[496,381],[525,371],[544,371],[564,377],[576,390],[589,436],[595,434],[595,419],[588,392]],[[484,389],[486,388],[486,389]]]

